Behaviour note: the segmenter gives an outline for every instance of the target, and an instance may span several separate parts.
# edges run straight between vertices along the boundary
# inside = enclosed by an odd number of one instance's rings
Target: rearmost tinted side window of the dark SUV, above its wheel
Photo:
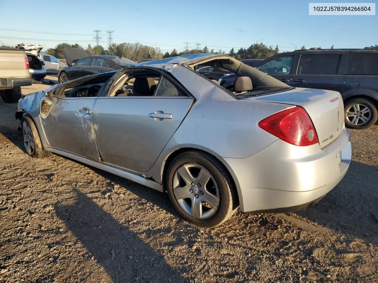
[[[378,54],[350,53],[347,75],[378,75]]]

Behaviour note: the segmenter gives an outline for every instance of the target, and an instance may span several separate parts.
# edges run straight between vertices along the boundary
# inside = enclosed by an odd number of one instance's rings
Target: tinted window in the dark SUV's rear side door
[[[297,75],[336,75],[341,54],[303,54]]]

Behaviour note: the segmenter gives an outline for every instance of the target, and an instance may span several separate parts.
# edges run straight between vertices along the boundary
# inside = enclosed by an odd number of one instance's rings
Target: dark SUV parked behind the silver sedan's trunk
[[[366,129],[377,120],[378,50],[296,50],[265,59],[258,69],[293,87],[340,92],[349,128]],[[227,77],[220,85],[233,87]]]

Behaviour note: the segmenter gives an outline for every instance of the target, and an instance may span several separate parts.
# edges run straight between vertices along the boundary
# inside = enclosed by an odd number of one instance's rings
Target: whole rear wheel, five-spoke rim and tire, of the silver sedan
[[[218,226],[237,208],[228,173],[218,160],[204,152],[178,155],[169,166],[167,188],[177,211],[197,226]]]

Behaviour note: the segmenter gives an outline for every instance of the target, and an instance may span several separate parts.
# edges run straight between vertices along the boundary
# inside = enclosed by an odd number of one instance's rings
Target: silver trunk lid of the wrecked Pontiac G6
[[[314,124],[321,148],[332,143],[344,128],[344,103],[337,91],[295,88],[245,99],[301,106]]]

